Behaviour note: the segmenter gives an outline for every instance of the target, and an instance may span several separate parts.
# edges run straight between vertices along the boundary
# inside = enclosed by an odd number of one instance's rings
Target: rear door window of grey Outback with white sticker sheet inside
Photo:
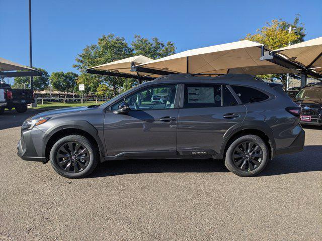
[[[184,108],[221,106],[221,85],[185,84]]]

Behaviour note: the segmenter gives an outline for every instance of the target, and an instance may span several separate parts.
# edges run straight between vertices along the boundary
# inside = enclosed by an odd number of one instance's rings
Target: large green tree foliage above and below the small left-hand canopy
[[[132,87],[136,82],[134,80],[128,82],[127,79],[120,77],[87,74],[85,73],[86,69],[134,55],[144,55],[156,59],[174,52],[175,46],[172,42],[165,44],[157,38],[152,38],[152,41],[149,41],[140,36],[134,36],[134,40],[129,46],[124,38],[109,34],[99,38],[97,44],[86,46],[83,52],[76,56],[76,64],[73,67],[82,72],[77,83],[85,84],[86,93],[96,92],[98,86],[105,83],[112,88],[115,96],[120,88],[128,88],[130,85]]]

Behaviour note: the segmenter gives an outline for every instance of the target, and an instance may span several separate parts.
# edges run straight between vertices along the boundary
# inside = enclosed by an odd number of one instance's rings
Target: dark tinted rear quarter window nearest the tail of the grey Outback
[[[243,104],[260,102],[268,99],[268,95],[263,92],[245,86],[232,85],[232,89],[236,92]]]

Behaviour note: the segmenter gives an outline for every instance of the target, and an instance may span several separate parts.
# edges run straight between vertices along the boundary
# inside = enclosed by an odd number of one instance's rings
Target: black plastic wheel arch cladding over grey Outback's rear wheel
[[[230,146],[230,144],[234,140],[236,140],[239,137],[246,136],[246,135],[255,135],[255,136],[260,137],[268,147],[269,159],[273,159],[273,157],[274,157],[274,142],[272,141],[273,139],[270,138],[264,132],[264,130],[254,129],[254,128],[248,128],[248,129],[243,128],[241,130],[237,130],[236,132],[230,134],[225,139],[223,145],[221,146],[221,153],[225,154],[227,149],[228,149],[228,147]]]

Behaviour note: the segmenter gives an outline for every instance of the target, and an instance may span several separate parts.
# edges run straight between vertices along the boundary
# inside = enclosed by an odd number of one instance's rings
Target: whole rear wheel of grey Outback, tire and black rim
[[[225,156],[225,166],[228,170],[241,177],[259,174],[268,161],[267,145],[260,137],[254,135],[237,138],[230,144]]]

